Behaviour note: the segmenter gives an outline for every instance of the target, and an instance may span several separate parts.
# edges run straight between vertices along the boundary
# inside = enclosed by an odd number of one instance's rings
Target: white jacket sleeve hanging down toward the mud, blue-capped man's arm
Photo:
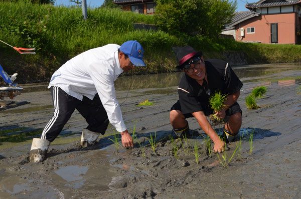
[[[121,109],[116,99],[114,76],[101,72],[90,74],[108,119],[118,132],[126,130]]]

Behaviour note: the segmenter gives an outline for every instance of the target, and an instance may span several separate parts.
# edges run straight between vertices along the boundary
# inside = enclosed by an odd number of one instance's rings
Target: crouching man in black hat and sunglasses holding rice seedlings
[[[241,81],[235,75],[228,63],[222,60],[206,60],[202,52],[196,52],[192,47],[173,48],[179,66],[185,72],[179,87],[179,100],[173,105],[170,112],[170,121],[176,135],[189,135],[189,126],[186,118],[195,117],[207,135],[214,142],[214,152],[224,151],[225,143],[233,141],[241,126],[242,111],[236,102]],[[213,113],[209,107],[209,98],[216,92],[227,95],[225,107],[216,112],[219,118],[227,116],[222,141],[213,130],[206,116]]]

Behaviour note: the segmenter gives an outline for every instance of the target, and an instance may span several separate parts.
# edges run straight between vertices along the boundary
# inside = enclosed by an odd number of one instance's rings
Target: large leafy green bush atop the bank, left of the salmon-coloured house
[[[235,9],[236,1],[229,0],[157,0],[155,23],[171,34],[216,38]]]

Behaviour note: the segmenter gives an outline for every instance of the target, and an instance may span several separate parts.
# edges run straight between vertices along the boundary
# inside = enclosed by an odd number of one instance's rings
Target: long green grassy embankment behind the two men
[[[298,62],[299,45],[244,44],[227,39],[176,37],[162,31],[135,30],[132,23],[153,24],[153,16],[110,9],[89,9],[82,20],[77,8],[31,3],[0,4],[0,40],[15,47],[32,48],[36,55],[21,55],[0,44],[0,64],[9,74],[19,73],[18,82],[49,81],[51,74],[75,55],[109,43],[121,45],[137,40],[144,47],[146,69],[131,74],[175,71],[172,46],[191,45],[204,52],[205,59],[227,60],[224,52],[243,52],[249,64]]]

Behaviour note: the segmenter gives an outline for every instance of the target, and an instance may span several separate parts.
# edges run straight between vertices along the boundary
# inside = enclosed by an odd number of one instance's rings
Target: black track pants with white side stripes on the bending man
[[[109,120],[98,94],[95,95],[93,100],[84,96],[81,101],[68,95],[57,86],[52,86],[50,91],[54,114],[44,128],[41,139],[47,139],[52,142],[60,134],[75,109],[86,119],[88,123],[86,128],[88,130],[101,134],[105,133]]]

